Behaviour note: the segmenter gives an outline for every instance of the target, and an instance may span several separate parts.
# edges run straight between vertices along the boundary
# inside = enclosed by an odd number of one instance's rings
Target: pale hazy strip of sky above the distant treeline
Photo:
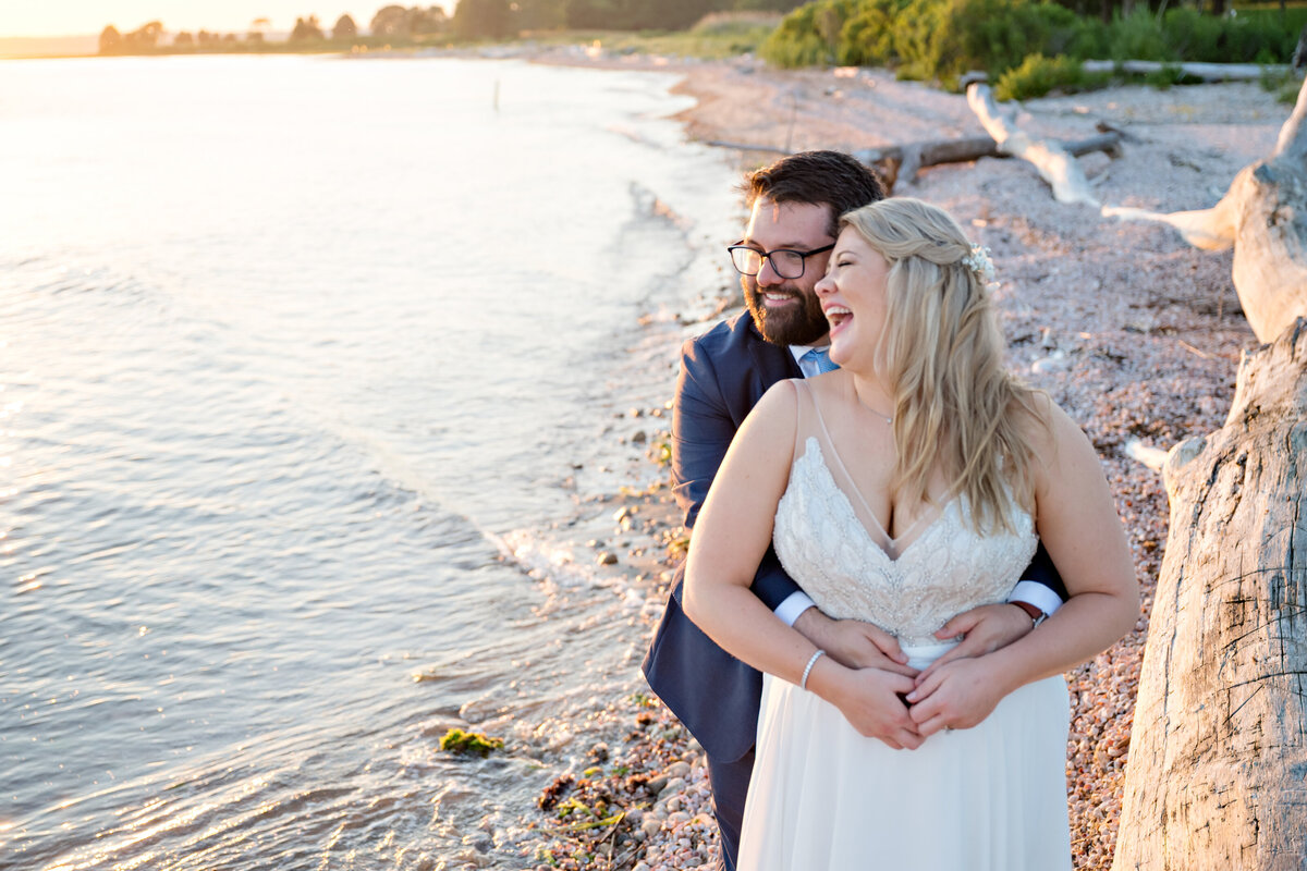
[[[290,30],[297,17],[318,16],[325,27],[348,12],[366,27],[382,7],[397,0],[0,0],[0,37],[67,37],[98,34],[105,25],[122,31],[149,21],[169,30],[244,33],[255,18],[273,30]],[[454,0],[400,0],[401,5],[439,5]]]

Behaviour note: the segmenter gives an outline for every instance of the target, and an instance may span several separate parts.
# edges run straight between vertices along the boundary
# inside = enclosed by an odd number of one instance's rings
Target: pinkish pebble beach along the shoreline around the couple
[[[540,60],[682,73],[676,90],[697,101],[680,116],[686,135],[755,146],[735,149],[741,168],[774,159],[772,150],[856,150],[984,132],[965,97],[885,71],[776,72],[749,57],[691,63],[561,51]],[[1121,131],[1120,155],[1080,158],[1095,196],[1166,213],[1214,205],[1243,166],[1269,154],[1290,108],[1257,84],[1121,86],[1031,101],[1017,121],[1061,140],[1087,137],[1100,124]],[[1239,355],[1257,345],[1230,278],[1231,253],[1193,249],[1161,225],[1059,204],[1034,168],[1014,159],[927,167],[915,180],[899,179],[893,193],[950,210],[991,248],[1009,366],[1089,434],[1125,524],[1142,593],[1134,631],[1067,675],[1074,867],[1108,871],[1168,526],[1161,474],[1128,456],[1127,445],[1166,451],[1223,424]],[[703,290],[708,304],[694,307],[702,313],[682,319],[686,337],[737,311],[735,289]],[[652,354],[674,364],[677,347]],[[639,428],[633,462],[656,466],[661,458],[673,379],[616,427],[623,440]],[[646,603],[631,632],[647,639],[684,554],[681,517],[661,479],[592,504],[596,559],[638,582]],[[618,537],[634,543],[605,543]],[[529,867],[712,867],[716,832],[702,751],[635,678],[630,696],[596,714],[609,722],[609,738],[589,748],[584,768],[559,772],[541,794]]]

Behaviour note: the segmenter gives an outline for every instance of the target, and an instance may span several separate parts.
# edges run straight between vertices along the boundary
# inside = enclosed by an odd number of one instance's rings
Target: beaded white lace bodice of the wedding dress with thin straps
[[[822,437],[809,435],[796,451],[772,533],[782,565],[817,606],[835,619],[874,623],[911,645],[937,644],[933,633],[950,618],[1005,602],[1035,554],[1030,515],[1018,509],[1016,534],[982,535],[957,498],[894,559],[835,482],[826,451],[835,470],[846,473],[819,414]]]

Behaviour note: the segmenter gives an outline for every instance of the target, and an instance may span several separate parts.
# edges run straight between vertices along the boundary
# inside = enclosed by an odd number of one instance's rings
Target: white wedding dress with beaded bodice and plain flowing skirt
[[[795,384],[799,439],[776,554],[822,611],[876,623],[925,667],[951,646],[933,636],[951,616],[1006,601],[1034,555],[1034,522],[1022,512],[1018,534],[978,535],[954,499],[891,558],[878,542],[898,542],[853,487],[812,389]],[[1068,727],[1059,675],[1006,696],[974,729],[895,751],[766,675],[737,867],[1069,871]]]

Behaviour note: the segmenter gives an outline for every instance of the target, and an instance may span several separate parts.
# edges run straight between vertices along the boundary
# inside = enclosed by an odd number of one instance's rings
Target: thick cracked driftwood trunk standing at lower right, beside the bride
[[[1114,871],[1307,868],[1307,320],[1166,464]]]

